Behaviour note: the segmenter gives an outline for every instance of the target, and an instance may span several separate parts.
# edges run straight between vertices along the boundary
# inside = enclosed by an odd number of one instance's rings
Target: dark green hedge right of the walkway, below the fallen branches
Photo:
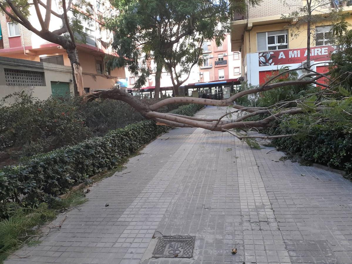
[[[293,134],[297,130],[282,122],[275,128],[274,135]],[[284,137],[272,142],[279,149],[297,154],[304,160],[345,170],[346,178],[352,179],[352,131],[342,125],[326,124],[305,131],[301,139]],[[350,175],[348,175],[350,174]]]

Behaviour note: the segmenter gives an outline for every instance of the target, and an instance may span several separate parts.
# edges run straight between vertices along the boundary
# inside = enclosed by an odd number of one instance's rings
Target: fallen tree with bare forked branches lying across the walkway
[[[298,70],[304,70],[307,73],[296,79],[285,78],[285,76],[287,76],[290,72],[295,72]],[[242,134],[239,133],[238,130],[243,130],[245,132],[253,129],[257,131],[265,130],[271,127],[276,120],[280,120],[280,118],[284,115],[320,113],[321,117],[324,116],[323,122],[327,122],[329,120],[336,121],[336,119],[332,120],[329,119],[329,117],[326,117],[326,111],[337,109],[331,106],[332,102],[341,103],[346,101],[347,99],[350,100],[351,97],[337,97],[337,92],[335,91],[335,89],[340,84],[335,83],[333,80],[331,80],[328,75],[329,72],[318,73],[310,69],[310,67],[304,66],[297,67],[295,69],[284,69],[281,70],[277,75],[269,78],[264,84],[251,89],[240,91],[237,94],[231,96],[230,98],[221,101],[193,97],[172,97],[166,98],[153,105],[145,105],[141,104],[140,101],[138,101],[133,96],[119,89],[106,90],[91,94],[88,95],[88,99],[100,97],[121,100],[130,104],[144,117],[155,120],[159,123],[171,125],[172,127],[198,127],[212,131],[221,131],[230,133],[231,135],[237,137],[240,140],[247,140],[252,138],[273,139],[278,137],[295,136],[297,135],[297,133],[275,136],[263,136]],[[320,82],[321,78],[324,78],[325,80],[328,79],[330,83],[326,84],[326,81]],[[301,85],[306,87],[307,89],[309,87],[312,92],[309,92],[306,96],[301,97],[300,99],[294,101],[277,102],[274,105],[271,105],[270,107],[255,107],[253,105],[246,107],[244,105],[234,103],[237,99],[243,96],[258,96],[264,91],[269,91],[292,85]],[[197,118],[157,112],[159,108],[174,103],[195,103],[202,105],[228,107],[228,109],[226,110],[224,115],[215,119]],[[346,111],[342,108],[340,114],[341,118],[349,118],[350,116],[352,116],[349,111]],[[225,117],[229,116],[233,116],[234,118],[225,119]],[[256,120],[253,120],[254,117],[256,117]]]

